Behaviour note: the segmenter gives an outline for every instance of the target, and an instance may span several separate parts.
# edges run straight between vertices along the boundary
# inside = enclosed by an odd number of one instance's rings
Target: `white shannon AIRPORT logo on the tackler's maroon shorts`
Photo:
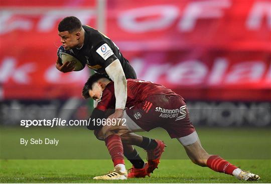
[[[160,106],[155,108],[155,111],[161,112],[159,117],[163,118],[176,118],[175,120],[181,120],[186,117],[186,105],[181,106],[180,108],[175,109],[166,109]]]

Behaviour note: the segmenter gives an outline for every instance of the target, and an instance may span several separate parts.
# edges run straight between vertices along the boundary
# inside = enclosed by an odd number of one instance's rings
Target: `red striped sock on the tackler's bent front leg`
[[[114,166],[124,164],[123,146],[119,135],[109,135],[105,138],[105,145],[111,155]]]

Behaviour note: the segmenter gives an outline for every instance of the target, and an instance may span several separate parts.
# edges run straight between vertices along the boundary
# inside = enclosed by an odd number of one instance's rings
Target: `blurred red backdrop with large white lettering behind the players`
[[[55,68],[58,22],[96,27],[96,1],[1,1],[2,99],[67,99],[90,74]],[[106,3],[105,34],[138,78],[193,100],[271,100],[271,1]]]

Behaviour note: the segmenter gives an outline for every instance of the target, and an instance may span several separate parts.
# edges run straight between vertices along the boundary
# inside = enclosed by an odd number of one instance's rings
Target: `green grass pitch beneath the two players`
[[[85,131],[83,128],[62,128],[61,131],[50,131],[52,136],[60,139],[62,137],[62,144],[69,143],[73,150],[81,149],[81,152],[91,154],[91,152],[94,151],[94,146],[95,151],[104,154],[104,156],[101,156],[100,159],[1,159],[0,182],[245,182],[236,179],[234,176],[212,171],[208,167],[195,165],[188,159],[180,143],[177,140],[170,139],[168,134],[161,129],[140,133],[163,139],[168,145],[162,156],[164,159],[161,160],[159,168],[151,174],[151,177],[131,178],[125,181],[93,180],[92,178],[94,176],[104,174],[112,169],[112,161],[108,159],[109,154],[106,152],[104,142],[96,140],[91,131]],[[44,130],[41,129],[19,131],[18,128],[2,127],[2,158],[7,154],[12,155],[14,153],[14,150],[10,150],[9,152],[3,149],[8,149],[7,145],[11,144],[18,137],[27,136],[30,133],[32,133],[31,136],[44,136],[43,132]],[[197,132],[203,146],[209,153],[219,154],[231,163],[245,170],[259,174],[261,179],[255,182],[271,182],[270,128],[198,128]],[[18,137],[16,137],[17,135]],[[73,139],[69,139],[69,137],[73,137]],[[83,141],[83,143],[78,143],[79,140]],[[89,143],[89,140],[91,140],[91,143]],[[23,149],[24,147],[20,146],[17,151],[20,151],[20,148],[22,151],[25,151]],[[41,147],[41,149],[42,148],[43,147]],[[142,151],[139,147],[136,148],[146,160],[146,152]],[[66,151],[70,152],[68,148]],[[50,152],[50,150],[48,150],[48,152]],[[176,154],[181,156],[176,157]],[[82,157],[84,157],[84,155],[82,155]],[[127,160],[125,162],[126,167],[130,168],[131,164]]]

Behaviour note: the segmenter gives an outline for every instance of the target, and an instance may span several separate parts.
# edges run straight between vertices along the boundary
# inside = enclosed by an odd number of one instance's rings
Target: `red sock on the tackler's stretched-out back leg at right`
[[[207,166],[214,171],[224,172],[226,174],[232,175],[232,172],[237,166],[231,164],[230,162],[222,159],[218,155],[212,155],[207,160]]]

